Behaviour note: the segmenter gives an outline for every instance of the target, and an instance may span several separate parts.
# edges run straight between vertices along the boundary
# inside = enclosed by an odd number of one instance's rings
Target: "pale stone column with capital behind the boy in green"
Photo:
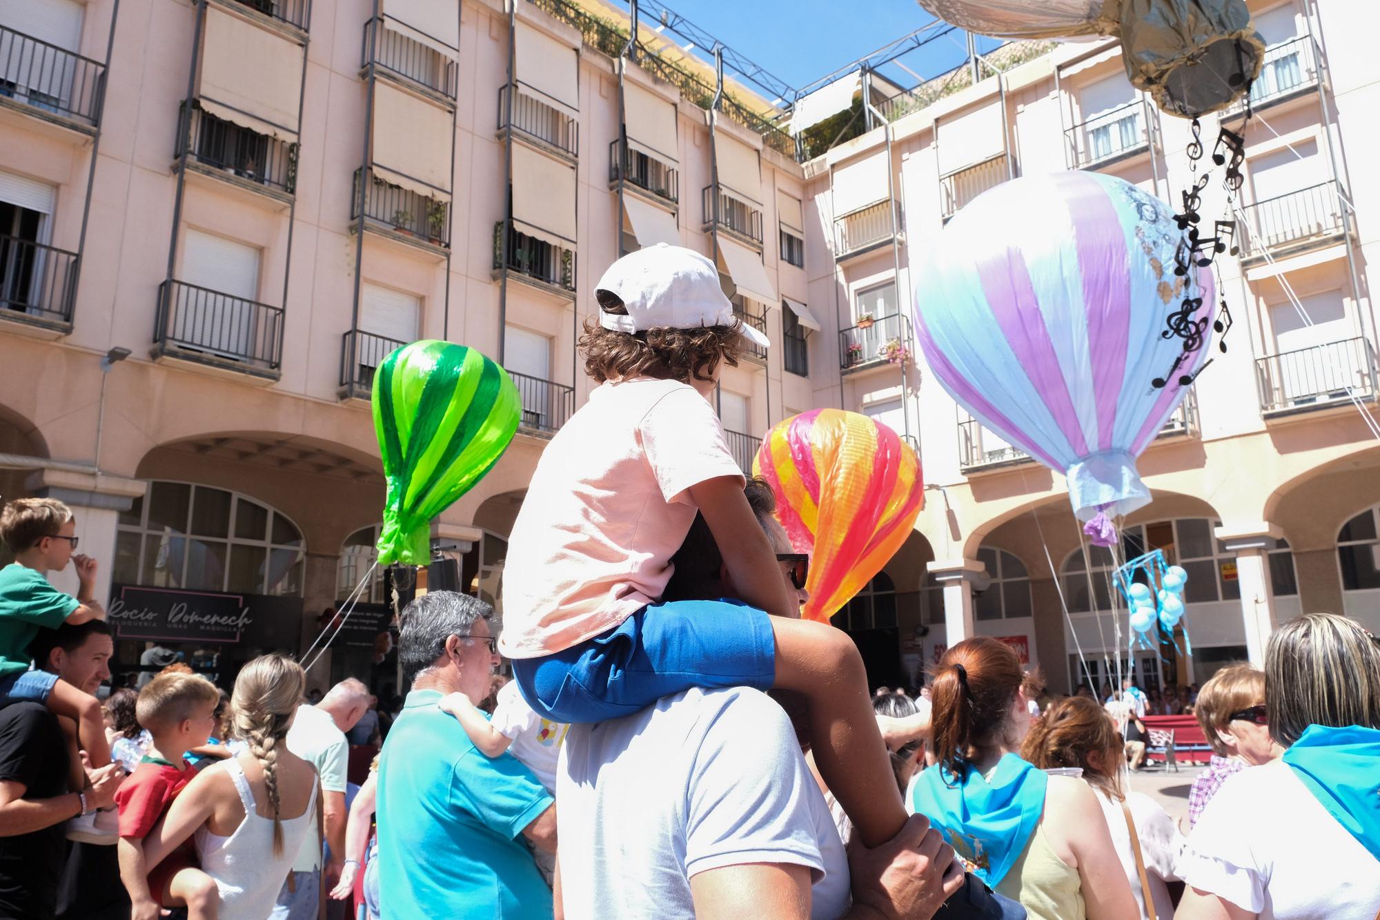
[[[77,552],[97,560],[95,600],[109,604],[116,526],[120,523],[120,513],[130,510],[134,499],[146,491],[148,483],[106,473],[40,469],[25,480],[25,487],[34,498],[55,498],[72,508],[77,526]],[[61,572],[50,572],[48,579],[58,590],[77,593],[77,575],[72,566]]]

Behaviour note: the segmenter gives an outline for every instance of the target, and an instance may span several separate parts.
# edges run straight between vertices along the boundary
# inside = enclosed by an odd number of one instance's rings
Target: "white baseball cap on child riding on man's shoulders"
[[[733,303],[719,287],[719,269],[682,246],[657,243],[629,252],[609,266],[595,291],[614,294],[627,308],[627,316],[599,312],[599,324],[618,332],[644,332],[658,326],[693,330],[737,321]],[[748,323],[740,328],[753,345],[770,348],[760,330]]]

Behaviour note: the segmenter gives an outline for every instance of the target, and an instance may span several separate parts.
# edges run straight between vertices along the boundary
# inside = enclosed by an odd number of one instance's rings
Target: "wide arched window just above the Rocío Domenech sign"
[[[120,514],[113,579],[188,590],[301,594],[297,524],[239,492],[153,481]]]

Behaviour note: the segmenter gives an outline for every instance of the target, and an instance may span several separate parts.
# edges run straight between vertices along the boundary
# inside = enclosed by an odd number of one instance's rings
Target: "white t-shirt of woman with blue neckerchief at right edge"
[[[1380,861],[1275,760],[1232,774],[1184,848],[1183,879],[1260,920],[1372,920]]]

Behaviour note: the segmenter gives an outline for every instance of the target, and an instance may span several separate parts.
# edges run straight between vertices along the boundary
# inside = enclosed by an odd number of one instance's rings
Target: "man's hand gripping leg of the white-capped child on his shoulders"
[[[849,847],[853,901],[887,920],[929,920],[963,887],[963,868],[954,850],[923,815],[911,815],[901,832],[880,847]]]

